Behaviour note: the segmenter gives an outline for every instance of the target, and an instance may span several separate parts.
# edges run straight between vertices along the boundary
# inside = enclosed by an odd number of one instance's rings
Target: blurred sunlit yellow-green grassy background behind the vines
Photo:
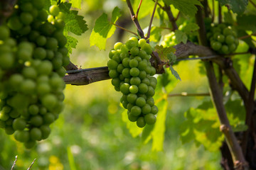
[[[90,33],[95,20],[102,14],[110,14],[112,7],[122,8],[123,19],[129,13],[122,1],[97,0],[83,1],[80,15],[85,16],[89,30],[78,38],[79,43],[70,59],[78,67],[102,67],[107,64],[108,51],[117,41],[125,42],[131,34],[117,33],[107,40],[106,50],[90,47]],[[97,4],[97,5],[96,5]],[[157,20],[154,21],[157,23]],[[142,27],[149,23],[149,17],[142,19]],[[130,24],[126,26],[135,31]],[[118,31],[118,30],[116,30]],[[174,68],[182,81],[178,81],[171,94],[207,93],[206,77],[199,74],[198,61],[179,62]],[[157,77],[157,76],[156,76]],[[161,76],[160,76],[161,77]],[[171,81],[177,81],[172,78]],[[164,150],[151,151],[151,141],[142,143],[139,137],[132,137],[127,125],[122,121],[124,108],[119,106],[121,93],[114,91],[110,80],[87,86],[67,85],[65,89],[65,110],[51,126],[52,132],[47,140],[38,142],[31,150],[24,149],[13,136],[0,130],[0,170],[11,169],[18,155],[15,169],[27,169],[33,159],[32,169],[221,169],[220,153],[208,152],[203,146],[196,147],[193,142],[182,144],[179,130],[185,120],[183,114],[188,108],[196,107],[205,97],[169,97],[166,117]],[[161,108],[159,108],[161,109]]]

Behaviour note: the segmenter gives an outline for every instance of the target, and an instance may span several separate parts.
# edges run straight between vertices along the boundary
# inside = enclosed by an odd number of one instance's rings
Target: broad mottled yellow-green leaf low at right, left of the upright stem
[[[205,105],[206,106],[203,106]],[[208,108],[209,102],[202,103],[201,108]],[[224,135],[220,132],[220,122],[214,108],[202,110],[200,108],[190,108],[185,113],[186,120],[180,128],[181,141],[197,142],[211,152],[218,151],[224,140]]]

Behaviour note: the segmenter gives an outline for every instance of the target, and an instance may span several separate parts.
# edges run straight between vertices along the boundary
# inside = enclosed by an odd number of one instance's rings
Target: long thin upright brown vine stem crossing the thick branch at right
[[[206,28],[203,23],[203,10],[201,6],[198,7],[198,12],[196,13],[196,23],[199,26],[199,42],[201,45],[208,46],[206,39]],[[206,6],[205,6],[206,8]],[[245,162],[245,157],[242,154],[242,148],[238,144],[238,140],[235,137],[235,133],[233,132],[227,113],[225,111],[225,107],[223,104],[223,95],[222,91],[218,86],[218,81],[215,77],[215,72],[213,69],[213,62],[205,62],[206,67],[206,75],[208,77],[208,83],[210,86],[210,96],[213,98],[213,103],[218,113],[218,118],[220,120],[220,131],[225,135],[225,141],[228,144],[228,148],[230,150],[230,154],[232,155],[233,164],[235,169],[244,169],[247,167],[247,163]]]

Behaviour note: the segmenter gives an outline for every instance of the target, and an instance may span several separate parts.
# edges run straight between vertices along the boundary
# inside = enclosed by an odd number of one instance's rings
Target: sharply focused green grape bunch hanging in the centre
[[[112,85],[123,94],[120,102],[139,128],[154,124],[158,112],[153,99],[157,81],[153,77],[156,69],[149,62],[151,52],[145,39],[132,37],[125,44],[115,43],[107,62]]]

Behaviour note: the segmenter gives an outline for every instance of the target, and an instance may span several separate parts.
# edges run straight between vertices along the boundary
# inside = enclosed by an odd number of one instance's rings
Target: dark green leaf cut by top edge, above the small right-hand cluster
[[[228,6],[234,13],[238,15],[244,13],[248,0],[218,0],[221,6]]]

